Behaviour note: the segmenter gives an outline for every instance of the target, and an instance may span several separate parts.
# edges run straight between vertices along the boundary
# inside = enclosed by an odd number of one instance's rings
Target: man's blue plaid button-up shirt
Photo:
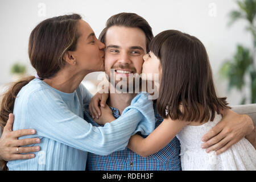
[[[84,105],[84,119],[93,126],[101,126],[93,121],[89,115],[89,105]],[[118,109],[110,107],[113,111],[113,116],[120,116]],[[154,102],[155,110],[155,127],[162,123],[163,118],[156,112],[156,103]],[[146,137],[143,136],[142,137]],[[135,152],[126,148],[122,151],[113,152],[110,155],[96,155],[88,153],[86,170],[89,171],[179,171],[181,170],[180,163],[180,142],[175,137],[171,142],[156,154],[143,158]]]

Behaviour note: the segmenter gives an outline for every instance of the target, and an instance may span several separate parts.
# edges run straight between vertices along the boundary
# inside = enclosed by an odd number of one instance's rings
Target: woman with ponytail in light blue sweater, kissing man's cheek
[[[1,103],[1,127],[13,112],[13,129],[35,129],[33,137],[40,138],[41,151],[34,159],[8,162],[10,170],[84,170],[86,151],[107,155],[123,150],[131,134],[141,130],[139,122],[141,126],[150,121],[143,127],[148,132],[154,129],[152,102],[143,94],[134,98],[122,117],[104,127],[82,119],[82,106],[92,96],[80,83],[88,73],[104,71],[104,48],[78,14],[49,18],[34,28],[28,55],[37,78],[24,78],[7,91]],[[113,120],[110,109],[105,119]],[[23,138],[31,136],[19,139]],[[18,148],[14,150],[18,153]]]

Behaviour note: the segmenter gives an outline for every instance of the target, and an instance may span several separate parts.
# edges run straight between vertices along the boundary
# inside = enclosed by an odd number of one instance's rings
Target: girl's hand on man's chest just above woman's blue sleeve
[[[106,123],[110,123],[115,120],[112,110],[108,105],[105,107],[101,107],[101,116],[99,118],[95,118],[94,121],[99,125],[105,125]]]

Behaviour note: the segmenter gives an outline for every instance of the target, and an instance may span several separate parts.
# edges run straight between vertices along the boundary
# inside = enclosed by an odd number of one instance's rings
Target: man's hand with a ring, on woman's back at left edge
[[[0,138],[0,160],[10,161],[18,159],[31,159],[35,158],[35,154],[26,154],[28,152],[36,152],[40,150],[39,146],[35,147],[20,147],[28,144],[40,143],[39,138],[27,138],[18,139],[24,135],[35,134],[35,130],[16,130],[13,131],[14,115],[10,114],[6,126],[3,129],[2,136]],[[17,148],[19,147],[19,153],[17,154]]]

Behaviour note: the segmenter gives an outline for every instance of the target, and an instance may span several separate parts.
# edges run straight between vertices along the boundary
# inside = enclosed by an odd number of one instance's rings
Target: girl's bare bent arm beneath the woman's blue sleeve
[[[170,143],[177,133],[189,123],[179,120],[173,121],[170,118],[164,119],[147,138],[137,134],[133,135],[127,147],[143,157],[155,154]]]

